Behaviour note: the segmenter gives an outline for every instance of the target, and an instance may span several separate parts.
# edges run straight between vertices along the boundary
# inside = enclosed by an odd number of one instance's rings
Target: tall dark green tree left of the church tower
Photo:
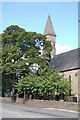
[[[32,72],[34,64],[46,66],[50,51],[51,44],[44,35],[26,32],[17,25],[7,27],[2,33],[3,91],[11,90],[18,79]]]

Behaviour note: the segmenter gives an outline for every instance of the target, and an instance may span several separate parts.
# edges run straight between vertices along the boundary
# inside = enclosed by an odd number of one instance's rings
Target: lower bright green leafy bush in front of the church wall
[[[41,96],[59,93],[69,95],[69,91],[71,90],[69,81],[54,72],[53,68],[49,67],[40,69],[38,75],[30,74],[22,77],[18,80],[15,87],[19,94],[23,93],[23,89],[26,88],[27,93],[38,93]]]

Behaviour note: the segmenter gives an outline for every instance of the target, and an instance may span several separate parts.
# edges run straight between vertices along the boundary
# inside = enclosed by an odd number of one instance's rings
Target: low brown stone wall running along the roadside
[[[2,103],[13,103],[11,98],[0,98]],[[41,107],[41,108],[58,108],[72,111],[78,111],[78,103],[64,102],[64,101],[49,101],[49,100],[26,100],[23,101],[21,98],[17,98],[16,104],[27,104],[30,106]]]

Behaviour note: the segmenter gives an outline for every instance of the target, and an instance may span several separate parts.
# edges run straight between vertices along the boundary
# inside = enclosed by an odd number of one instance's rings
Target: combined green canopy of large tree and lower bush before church
[[[17,25],[7,27],[1,35],[3,91],[15,87],[20,94],[25,87],[28,93],[40,95],[69,94],[69,81],[48,66],[52,46],[44,35]]]

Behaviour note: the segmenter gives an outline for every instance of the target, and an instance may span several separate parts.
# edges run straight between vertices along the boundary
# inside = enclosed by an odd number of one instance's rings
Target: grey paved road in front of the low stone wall
[[[1,104],[0,104],[1,116]],[[3,118],[78,118],[74,111],[63,111],[54,108],[37,108],[25,104],[2,104]]]

